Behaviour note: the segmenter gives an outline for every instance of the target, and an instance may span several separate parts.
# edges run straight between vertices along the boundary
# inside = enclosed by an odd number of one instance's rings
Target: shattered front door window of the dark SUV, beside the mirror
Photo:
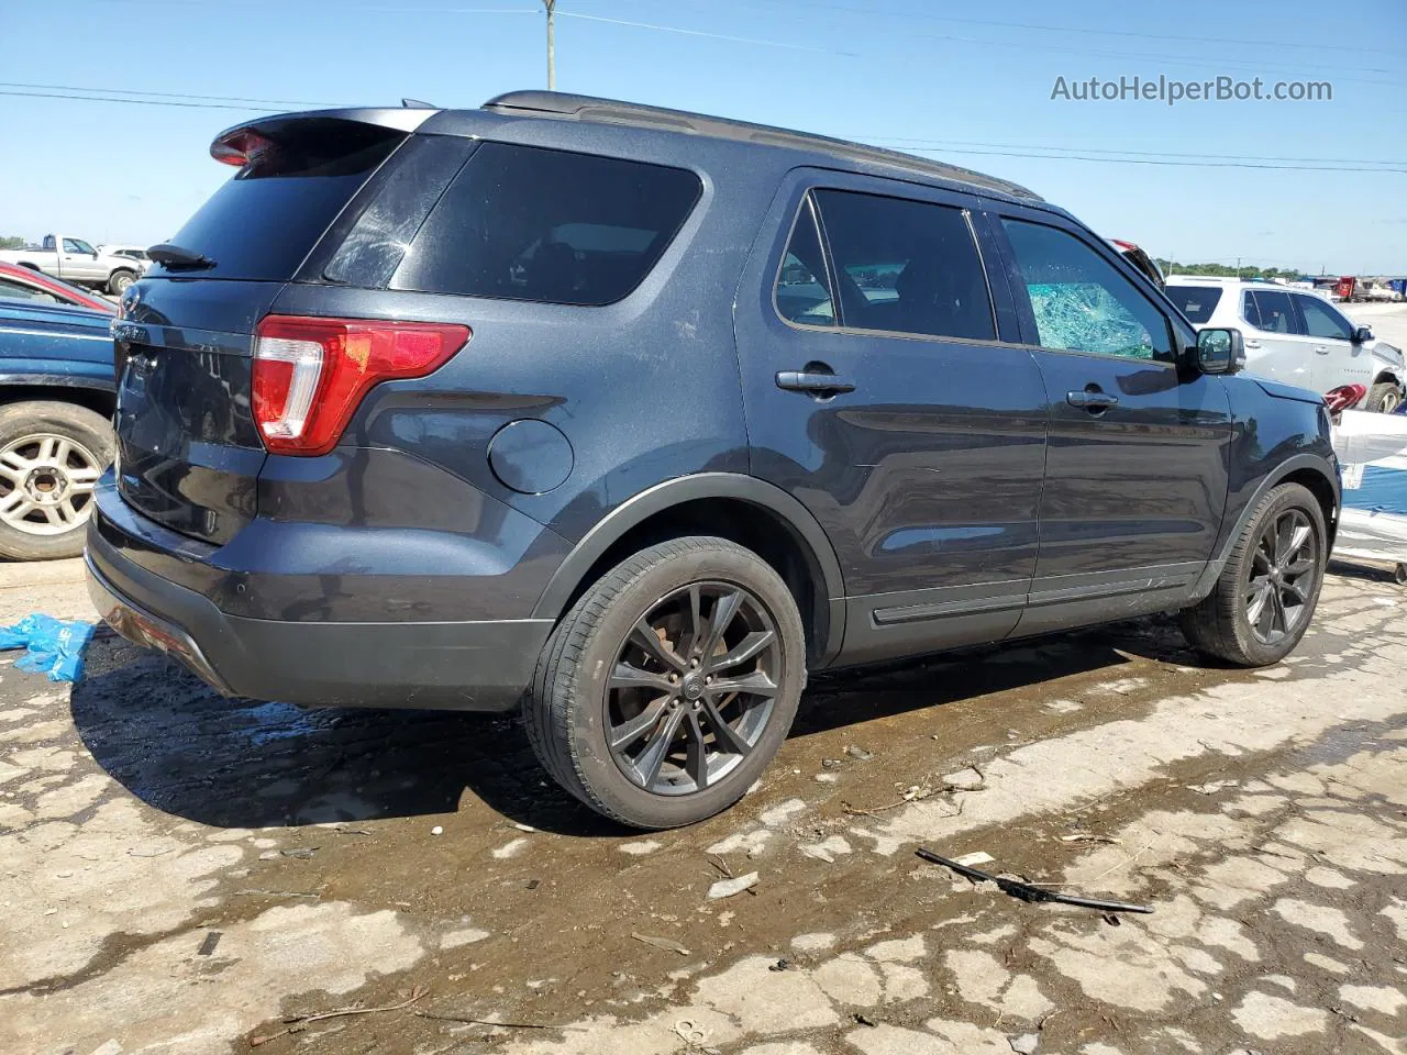
[[[1172,362],[1168,319],[1074,235],[1003,219],[1043,347]]]

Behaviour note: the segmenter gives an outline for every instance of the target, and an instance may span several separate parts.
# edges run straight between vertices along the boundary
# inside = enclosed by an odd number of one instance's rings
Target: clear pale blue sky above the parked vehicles
[[[1159,257],[1407,274],[1407,0],[559,0],[556,35],[561,91],[923,149]],[[1134,76],[1332,100],[1052,98]],[[0,0],[0,235],[163,241],[256,107],[545,86],[540,0]]]

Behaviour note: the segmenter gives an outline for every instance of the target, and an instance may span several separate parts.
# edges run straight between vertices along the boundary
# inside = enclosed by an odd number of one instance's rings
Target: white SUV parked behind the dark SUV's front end
[[[1403,353],[1355,325],[1323,297],[1285,286],[1200,274],[1168,277],[1168,297],[1199,329],[1235,326],[1245,336],[1245,370],[1327,392],[1368,391],[1359,409],[1392,414],[1403,404]]]

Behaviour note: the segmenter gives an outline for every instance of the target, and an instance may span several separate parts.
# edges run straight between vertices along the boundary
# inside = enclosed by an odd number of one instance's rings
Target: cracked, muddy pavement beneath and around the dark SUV
[[[32,609],[90,618],[76,561],[0,567],[0,618]],[[1148,619],[815,678],[753,793],[653,836],[511,720],[228,702],[113,639],[70,689],[11,653],[0,1049],[1407,1052],[1404,612],[1335,565],[1255,674]]]

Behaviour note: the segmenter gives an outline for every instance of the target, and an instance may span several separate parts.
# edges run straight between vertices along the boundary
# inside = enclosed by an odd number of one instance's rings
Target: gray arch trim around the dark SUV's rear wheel
[[[746,546],[782,577],[806,627],[810,665],[823,667],[840,651],[844,581],[825,530],[781,488],[736,473],[678,477],[616,506],[567,554],[532,616],[561,619],[592,582],[630,553],[687,535],[716,535]]]

